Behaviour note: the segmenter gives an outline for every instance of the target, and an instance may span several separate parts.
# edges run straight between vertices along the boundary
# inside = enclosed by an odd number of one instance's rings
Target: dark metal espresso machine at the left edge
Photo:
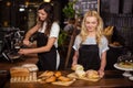
[[[18,28],[0,28],[0,56],[9,62],[20,58],[18,54],[22,46],[24,31]]]

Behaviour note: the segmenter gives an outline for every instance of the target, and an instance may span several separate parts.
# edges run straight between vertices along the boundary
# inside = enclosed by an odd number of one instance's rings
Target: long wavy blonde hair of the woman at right
[[[82,38],[81,43],[83,43],[86,40],[86,36],[88,36],[88,30],[86,30],[86,26],[85,26],[85,21],[86,21],[88,16],[95,16],[98,19],[98,28],[96,28],[96,37],[95,38],[96,38],[96,44],[100,45],[101,37],[103,35],[103,20],[96,11],[88,11],[84,14],[82,25],[81,25],[81,33],[80,33],[80,36]]]

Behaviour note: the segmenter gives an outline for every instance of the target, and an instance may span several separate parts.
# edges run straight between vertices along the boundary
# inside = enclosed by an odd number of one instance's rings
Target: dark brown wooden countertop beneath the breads
[[[39,72],[38,74],[40,74]],[[70,70],[63,70],[68,75]],[[133,80],[122,76],[121,70],[105,70],[105,76],[99,81],[75,80],[71,86],[55,86],[52,84],[39,82],[10,82],[7,81],[4,88],[133,88]]]

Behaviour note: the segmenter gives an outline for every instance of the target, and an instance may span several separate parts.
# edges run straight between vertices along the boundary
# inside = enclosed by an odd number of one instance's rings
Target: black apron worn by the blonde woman
[[[84,70],[100,68],[100,56],[98,45],[81,45],[79,48],[78,63],[83,65]]]

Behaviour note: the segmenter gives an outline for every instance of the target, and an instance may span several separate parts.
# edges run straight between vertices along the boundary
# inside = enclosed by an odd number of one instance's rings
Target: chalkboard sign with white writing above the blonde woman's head
[[[76,13],[84,14],[89,10],[95,10],[99,12],[100,0],[78,0],[74,9]]]

